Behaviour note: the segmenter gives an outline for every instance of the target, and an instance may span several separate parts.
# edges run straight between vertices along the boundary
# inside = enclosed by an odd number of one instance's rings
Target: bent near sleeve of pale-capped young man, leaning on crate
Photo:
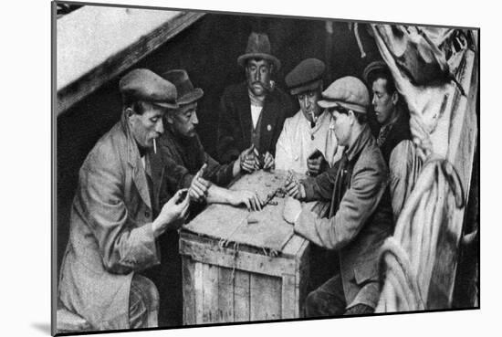
[[[343,195],[336,215],[329,219],[320,218],[302,210],[295,222],[295,232],[321,247],[345,247],[375,211],[386,186],[386,171],[371,165],[354,167],[350,188]]]

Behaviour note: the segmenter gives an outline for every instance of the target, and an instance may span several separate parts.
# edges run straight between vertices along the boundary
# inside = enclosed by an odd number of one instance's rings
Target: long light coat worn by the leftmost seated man
[[[122,117],[80,168],[60,270],[59,300],[93,328],[129,328],[133,273],[160,263],[154,208],[138,147]]]

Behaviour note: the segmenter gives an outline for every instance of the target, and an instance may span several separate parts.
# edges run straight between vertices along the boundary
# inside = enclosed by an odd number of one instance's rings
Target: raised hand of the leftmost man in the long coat
[[[183,225],[190,205],[190,195],[187,192],[186,188],[179,190],[162,206],[161,213],[152,223],[154,237],[159,237],[166,230],[178,229]]]

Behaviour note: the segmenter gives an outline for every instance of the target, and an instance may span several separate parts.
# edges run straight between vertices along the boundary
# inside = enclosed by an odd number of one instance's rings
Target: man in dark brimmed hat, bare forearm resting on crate
[[[169,70],[162,77],[176,87],[178,97],[175,102],[178,108],[168,109],[164,118],[165,132],[158,142],[162,166],[169,173],[165,175],[160,199],[167,200],[180,189],[189,188],[191,217],[196,216],[208,203],[246,205],[249,209],[260,209],[256,193],[223,187],[243,170],[252,170],[254,161],[245,159],[246,154],[252,150],[246,149],[231,163],[216,162],[205,153],[196,132],[199,123],[197,101],[203,97],[204,91],[193,87],[183,69]],[[177,232],[170,232],[162,237],[161,254],[170,258],[167,263],[152,269],[148,274],[159,289],[161,325],[175,326],[183,323],[182,263],[178,254],[178,242]]]

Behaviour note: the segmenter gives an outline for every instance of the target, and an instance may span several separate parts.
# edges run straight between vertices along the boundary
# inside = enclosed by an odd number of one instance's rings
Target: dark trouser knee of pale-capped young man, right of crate
[[[328,279],[317,290],[309,293],[305,303],[307,317],[336,316],[345,311],[347,302],[340,275]]]

